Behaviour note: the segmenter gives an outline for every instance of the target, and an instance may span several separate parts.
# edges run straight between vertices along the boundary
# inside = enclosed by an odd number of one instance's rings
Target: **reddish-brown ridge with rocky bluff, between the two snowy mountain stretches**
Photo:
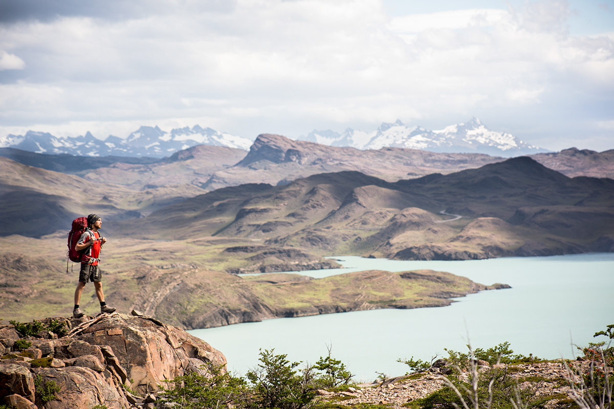
[[[235,166],[217,171],[203,188],[214,190],[241,183],[287,184],[309,175],[357,170],[395,181],[435,172],[450,173],[503,158],[479,153],[435,153],[405,148],[358,150],[292,140],[281,135],[259,135],[247,156]]]

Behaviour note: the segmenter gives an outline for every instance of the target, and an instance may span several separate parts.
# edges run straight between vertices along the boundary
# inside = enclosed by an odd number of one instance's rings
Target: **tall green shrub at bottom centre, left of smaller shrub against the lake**
[[[252,407],[276,409],[311,408],[315,405],[314,371],[312,367],[295,370],[300,362],[290,362],[287,354],[274,355],[274,350],[260,350],[261,362],[247,372],[254,400]]]

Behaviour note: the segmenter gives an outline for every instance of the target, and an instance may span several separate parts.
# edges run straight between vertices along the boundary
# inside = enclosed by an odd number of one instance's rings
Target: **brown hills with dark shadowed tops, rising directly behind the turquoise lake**
[[[120,229],[151,238],[241,237],[316,254],[489,258],[605,248],[614,243],[612,204],[614,180],[569,178],[520,157],[398,182],[336,172],[233,186]],[[571,215],[583,222],[567,222]]]

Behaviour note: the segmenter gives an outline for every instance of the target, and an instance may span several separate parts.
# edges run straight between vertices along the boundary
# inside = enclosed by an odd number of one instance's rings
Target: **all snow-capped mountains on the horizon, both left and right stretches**
[[[360,150],[381,148],[411,148],[440,153],[486,153],[492,156],[513,157],[545,153],[548,150],[529,145],[506,132],[491,131],[478,118],[440,131],[429,131],[421,126],[408,127],[400,120],[383,123],[373,132],[346,129],[343,134],[334,131],[309,132],[296,140],[316,142],[331,147],[351,147]],[[90,132],[76,138],[56,137],[49,132],[28,131],[25,136],[9,135],[0,138],[0,148],[17,148],[29,152],[76,156],[131,156],[164,158],[195,145],[250,150],[252,140],[218,132],[211,128],[177,128],[171,132],[157,126],[141,126],[126,139],[109,136],[96,139]]]

